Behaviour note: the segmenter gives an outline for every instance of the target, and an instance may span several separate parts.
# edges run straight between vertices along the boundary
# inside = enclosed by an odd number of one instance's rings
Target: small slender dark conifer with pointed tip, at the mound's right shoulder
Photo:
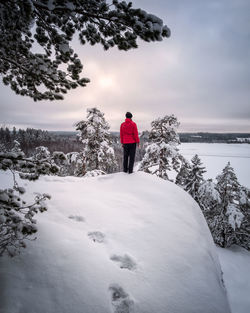
[[[206,172],[205,167],[202,166],[202,162],[196,154],[191,159],[191,169],[189,170],[186,183],[184,183],[184,189],[197,201],[198,189],[204,181],[203,174]]]

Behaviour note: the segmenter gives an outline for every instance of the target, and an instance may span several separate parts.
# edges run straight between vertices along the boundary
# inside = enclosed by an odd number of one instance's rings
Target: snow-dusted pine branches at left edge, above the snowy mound
[[[17,146],[13,150],[19,150]],[[22,198],[25,189],[18,185],[15,172],[23,179],[36,180],[57,168],[44,160],[27,159],[22,151],[11,151],[0,153],[0,170],[11,171],[14,181],[13,187],[0,189],[0,256],[5,252],[14,256],[25,247],[25,239],[37,231],[33,217],[47,209],[45,200],[50,199],[48,194],[37,194],[34,203],[26,204]]]

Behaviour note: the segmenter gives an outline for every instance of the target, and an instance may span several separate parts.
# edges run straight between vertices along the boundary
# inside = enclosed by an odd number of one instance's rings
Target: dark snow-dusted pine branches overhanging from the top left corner
[[[35,101],[61,100],[89,82],[80,77],[83,65],[70,46],[76,33],[81,44],[125,51],[137,48],[138,37],[170,36],[160,18],[118,0],[9,0],[0,2],[0,12],[3,83]]]

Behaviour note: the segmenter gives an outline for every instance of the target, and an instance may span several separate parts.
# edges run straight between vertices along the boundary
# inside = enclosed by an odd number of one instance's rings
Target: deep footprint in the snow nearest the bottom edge
[[[113,313],[133,313],[134,301],[118,284],[109,286]]]

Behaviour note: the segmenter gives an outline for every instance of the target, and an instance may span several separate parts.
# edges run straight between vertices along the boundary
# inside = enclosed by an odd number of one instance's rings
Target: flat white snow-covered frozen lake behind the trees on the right
[[[230,162],[239,183],[250,188],[250,144],[182,143],[179,149],[188,160],[199,155],[207,170],[205,178],[214,179]]]

